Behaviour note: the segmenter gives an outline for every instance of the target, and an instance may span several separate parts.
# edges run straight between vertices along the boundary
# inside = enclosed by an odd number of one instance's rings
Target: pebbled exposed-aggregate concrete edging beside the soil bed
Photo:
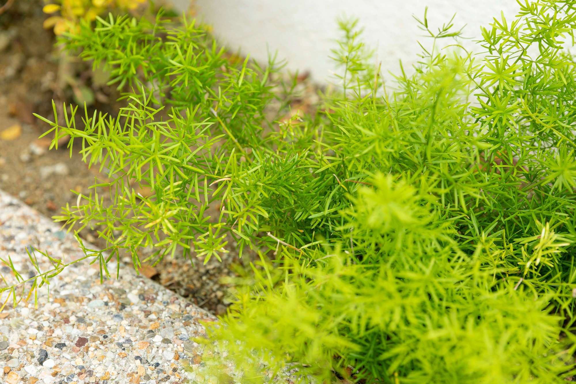
[[[10,256],[29,278],[35,275],[26,255],[31,247],[67,261],[82,256],[70,235],[0,191],[0,257]],[[46,258],[38,261],[41,271],[51,268]],[[0,271],[15,283],[5,264]],[[46,286],[37,309],[33,295],[15,309],[9,302],[0,312],[0,382],[218,382],[199,373],[202,347],[190,341],[204,334],[202,324],[215,321],[213,315],[130,268],[122,271],[101,284],[96,265],[73,264],[50,280],[50,302]],[[30,284],[25,288],[24,295]]]

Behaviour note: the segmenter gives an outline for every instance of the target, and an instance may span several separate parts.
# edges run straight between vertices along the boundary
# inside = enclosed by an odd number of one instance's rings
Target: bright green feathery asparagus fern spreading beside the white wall
[[[204,260],[229,238],[255,250],[206,341],[242,382],[293,368],[303,381],[563,381],[576,348],[564,48],[576,2],[519,6],[482,29],[478,55],[438,48],[457,42],[452,21],[434,32],[416,19],[433,44],[394,88],[342,21],[342,92],[287,124],[267,118],[274,66],[226,60],[194,23],[84,24],[67,47],[131,91],[118,116],[79,128],[72,107],[40,117],[109,179],[56,219],[103,226],[135,265],[142,246]]]

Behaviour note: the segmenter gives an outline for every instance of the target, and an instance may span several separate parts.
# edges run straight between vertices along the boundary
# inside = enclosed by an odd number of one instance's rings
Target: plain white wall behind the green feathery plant
[[[180,7],[187,3],[173,1]],[[454,25],[467,25],[464,34],[472,38],[501,10],[512,17],[518,9],[514,0],[195,0],[195,4],[199,17],[214,26],[223,43],[258,60],[266,59],[268,49],[278,51],[280,58],[289,60],[289,69],[310,70],[317,80],[329,78],[334,70],[328,55],[338,36],[339,16],[358,17],[365,26],[365,41],[376,48],[376,62],[397,71],[400,59],[408,66],[418,59],[418,40],[431,44],[412,19],[413,14],[422,16],[425,6],[430,25],[440,26],[456,13]],[[464,40],[463,45],[475,44]]]

